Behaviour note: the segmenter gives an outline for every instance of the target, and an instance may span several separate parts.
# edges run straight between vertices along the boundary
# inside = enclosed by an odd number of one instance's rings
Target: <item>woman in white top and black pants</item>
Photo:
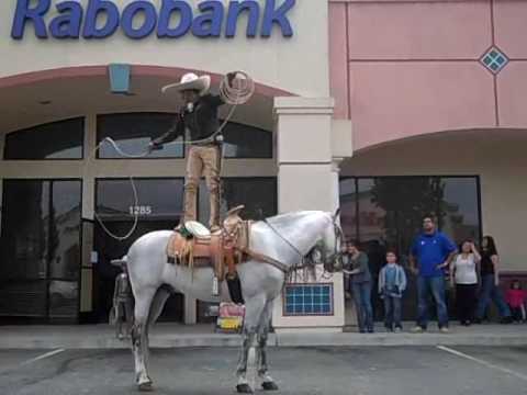
[[[456,305],[461,325],[470,326],[478,292],[478,264],[481,256],[471,240],[461,244],[450,266],[450,284],[456,285]]]

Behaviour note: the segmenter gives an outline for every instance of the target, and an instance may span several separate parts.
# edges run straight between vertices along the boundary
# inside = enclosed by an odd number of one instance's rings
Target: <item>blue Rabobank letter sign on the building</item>
[[[159,38],[178,38],[186,34],[198,37],[234,37],[238,20],[246,14],[247,37],[269,37],[281,31],[293,36],[289,18],[296,0],[200,1],[197,8],[189,0],[133,0],[120,10],[111,0],[76,0],[54,2],[53,18],[46,16],[52,0],[18,0],[11,37],[22,40],[34,32],[38,38],[105,38],[119,29],[130,38],[145,38],[156,33]],[[244,26],[245,27],[245,26]]]

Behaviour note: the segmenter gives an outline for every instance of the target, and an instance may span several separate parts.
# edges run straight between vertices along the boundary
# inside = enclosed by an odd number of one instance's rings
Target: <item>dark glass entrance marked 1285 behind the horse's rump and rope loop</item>
[[[141,236],[155,232],[173,229],[182,215],[182,179],[134,179],[137,203],[134,200],[130,179],[97,180],[97,213],[104,225],[96,222],[93,248],[98,260],[93,268],[93,320],[108,323],[113,303],[115,276],[120,269],[111,264],[112,259],[127,253],[132,244]],[[108,230],[117,236],[126,235],[133,227],[135,214],[139,221],[132,236],[115,240]],[[159,320],[181,321],[183,319],[183,296],[172,294]]]

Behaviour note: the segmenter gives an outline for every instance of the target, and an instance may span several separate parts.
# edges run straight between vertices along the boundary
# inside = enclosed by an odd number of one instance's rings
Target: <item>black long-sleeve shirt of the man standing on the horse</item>
[[[153,143],[161,145],[178,138],[184,137],[184,132],[190,132],[190,139],[202,140],[211,137],[220,128],[220,121],[217,120],[217,108],[225,104],[221,97],[205,94],[198,99],[192,111],[187,109],[178,114],[170,129]],[[203,142],[201,144],[215,144],[215,142]]]

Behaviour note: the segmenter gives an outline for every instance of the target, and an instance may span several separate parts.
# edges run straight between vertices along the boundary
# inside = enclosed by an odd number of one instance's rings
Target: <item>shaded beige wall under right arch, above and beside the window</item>
[[[480,176],[483,234],[495,237],[504,270],[526,271],[525,131],[446,134],[357,153],[341,174]]]

